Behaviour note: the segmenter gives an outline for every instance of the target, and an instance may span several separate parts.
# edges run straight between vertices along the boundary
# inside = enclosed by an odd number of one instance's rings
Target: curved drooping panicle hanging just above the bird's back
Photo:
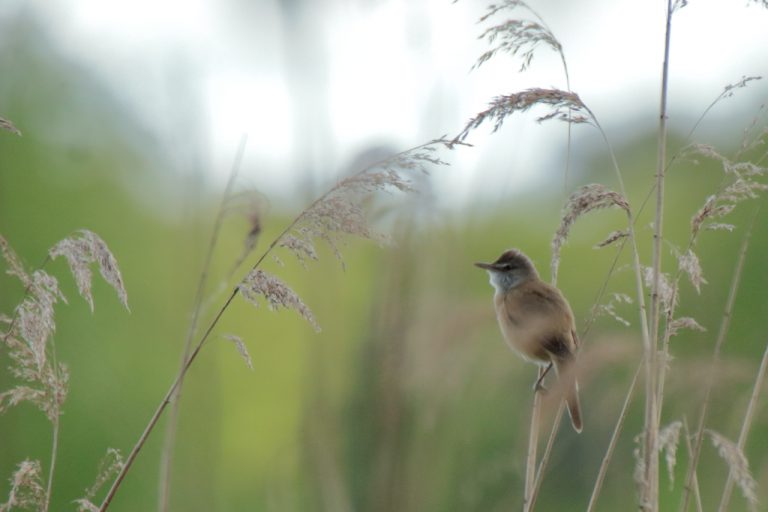
[[[553,280],[557,277],[560,265],[560,250],[568,240],[568,235],[576,220],[582,215],[594,210],[616,206],[629,213],[629,203],[618,192],[614,192],[599,183],[592,183],[578,188],[566,201],[560,217],[560,226],[552,238],[552,270]]]

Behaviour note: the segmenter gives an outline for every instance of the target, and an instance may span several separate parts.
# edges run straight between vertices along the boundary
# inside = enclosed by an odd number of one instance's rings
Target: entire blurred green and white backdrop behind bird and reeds
[[[643,4],[643,5],[641,5]],[[651,5],[658,4],[658,5]],[[90,313],[65,265],[50,270],[69,305],[57,310],[57,357],[71,373],[61,422],[53,510],[74,509],[108,447],[127,452],[178,367],[222,189],[248,135],[208,285],[202,324],[223,301],[233,263],[258,216],[256,253],[312,199],[383,156],[453,136],[494,95],[565,87],[556,55],[531,68],[500,57],[469,72],[485,44],[483,2],[192,1],[0,2],[0,233],[32,268],[80,228],[100,234],[118,259],[127,313],[95,284]],[[630,200],[650,191],[656,160],[663,2],[536,2],[560,38],[571,86],[614,144]],[[671,148],[723,88],[768,72],[768,10],[756,3],[695,2],[679,11],[671,56]],[[717,104],[694,139],[733,154],[765,126],[765,83]],[[184,388],[172,510],[508,510],[522,504],[535,369],[503,345],[486,276],[472,267],[523,248],[549,278],[549,243],[575,187],[616,188],[598,132],[537,124],[536,112],[472,147],[440,154],[450,166],[419,179],[418,194],[385,195],[372,221],[393,243],[350,239],[344,265],[330,250],[304,269],[289,255],[266,269],[313,309],[315,334],[294,312],[238,300]],[[759,151],[755,153],[760,158]],[[763,164],[765,161],[763,160]],[[717,165],[683,162],[669,175],[668,263],[691,216],[722,180]],[[734,233],[706,234],[699,254],[708,284],[685,283],[680,314],[708,330],[674,340],[662,424],[694,424],[741,238],[760,201],[732,216]],[[650,210],[650,208],[648,208]],[[745,279],[718,373],[709,426],[738,435],[766,344],[766,212],[757,214]],[[638,222],[650,262],[651,217]],[[594,250],[622,225],[618,212],[581,221],[563,253],[559,286],[583,329],[614,249]],[[249,260],[253,262],[253,258]],[[632,294],[628,258],[608,292]],[[242,270],[239,275],[242,275]],[[23,295],[0,277],[0,311]],[[626,327],[599,317],[582,353],[585,431],[562,429],[539,510],[586,506],[600,460],[640,357],[637,313]],[[248,344],[250,371],[231,343]],[[0,387],[12,385],[0,352]],[[766,390],[763,390],[766,391]],[[550,404],[551,405],[551,404]],[[552,408],[545,417],[551,421]],[[635,506],[633,404],[600,510]],[[163,424],[113,510],[156,507]],[[768,500],[768,410],[758,409],[747,455]],[[50,426],[22,405],[0,417],[0,495],[24,458],[47,464]],[[709,445],[699,478],[714,506],[727,467]],[[666,470],[662,509],[677,506]],[[746,510],[738,493],[732,510]]]

